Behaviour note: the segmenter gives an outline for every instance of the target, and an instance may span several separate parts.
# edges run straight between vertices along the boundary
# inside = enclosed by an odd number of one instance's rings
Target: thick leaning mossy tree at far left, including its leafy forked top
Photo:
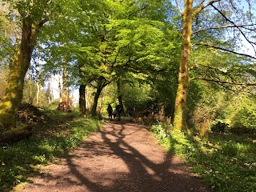
[[[26,71],[37,42],[38,32],[47,21],[46,6],[48,1],[6,1],[18,10],[22,20],[22,38],[17,53],[10,64],[10,75],[7,82],[6,94],[0,103],[0,132],[16,127],[16,112],[22,102],[22,93]]]

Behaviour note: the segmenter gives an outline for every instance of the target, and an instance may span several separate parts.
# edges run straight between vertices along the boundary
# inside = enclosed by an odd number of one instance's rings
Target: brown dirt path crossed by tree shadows
[[[66,158],[41,170],[32,184],[14,191],[210,191],[180,158],[157,145],[149,130],[106,122]]]

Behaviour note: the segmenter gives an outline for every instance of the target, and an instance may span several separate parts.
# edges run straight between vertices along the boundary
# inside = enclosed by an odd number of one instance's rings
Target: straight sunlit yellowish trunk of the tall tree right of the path
[[[189,88],[189,58],[191,50],[190,38],[192,35],[192,22],[193,22],[193,0],[185,0],[182,26],[182,55],[179,64],[178,73],[178,90],[175,100],[174,111],[174,128],[178,130],[187,130],[186,122],[186,98]]]

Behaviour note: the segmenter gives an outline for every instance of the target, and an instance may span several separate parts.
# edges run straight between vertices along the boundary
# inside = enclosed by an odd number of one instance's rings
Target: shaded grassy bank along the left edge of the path
[[[62,157],[101,125],[98,119],[80,118],[76,112],[48,110],[46,113],[49,121],[34,124],[31,138],[0,145],[0,191],[27,182],[38,166]]]

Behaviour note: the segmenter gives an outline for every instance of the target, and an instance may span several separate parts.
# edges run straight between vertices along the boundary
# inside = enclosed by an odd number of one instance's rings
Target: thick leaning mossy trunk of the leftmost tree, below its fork
[[[22,40],[15,54],[14,62],[10,65],[6,94],[0,103],[0,133],[16,127],[16,112],[22,102],[24,78],[30,66],[32,51],[36,43],[38,25],[29,20],[22,20]]]

